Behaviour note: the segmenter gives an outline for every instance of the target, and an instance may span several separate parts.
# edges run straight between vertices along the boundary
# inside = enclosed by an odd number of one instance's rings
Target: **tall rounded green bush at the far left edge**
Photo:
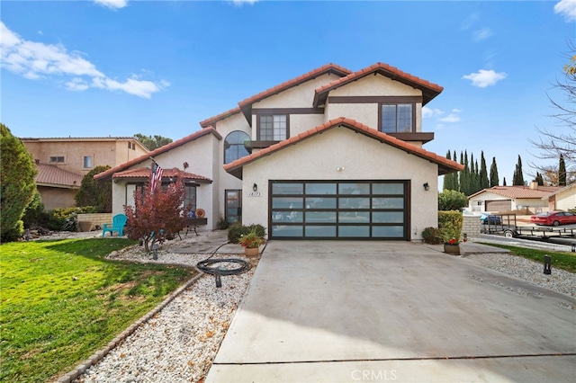
[[[19,138],[0,123],[0,240],[23,235],[22,216],[36,190],[36,166]]]

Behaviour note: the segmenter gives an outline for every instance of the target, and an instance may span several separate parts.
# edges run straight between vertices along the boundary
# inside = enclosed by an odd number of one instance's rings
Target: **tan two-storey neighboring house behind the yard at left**
[[[68,177],[64,174],[76,174],[79,177],[80,181],[77,181],[75,185],[45,183],[39,174],[36,177],[36,183],[46,209],[75,206],[74,196],[80,187],[82,178],[95,166],[110,165],[114,167],[148,153],[148,149],[137,138],[133,137],[20,139],[31,153],[36,164],[50,169],[50,177],[59,177],[61,180],[71,179],[71,175]],[[54,168],[61,172],[56,172]],[[60,175],[56,176],[55,174]]]

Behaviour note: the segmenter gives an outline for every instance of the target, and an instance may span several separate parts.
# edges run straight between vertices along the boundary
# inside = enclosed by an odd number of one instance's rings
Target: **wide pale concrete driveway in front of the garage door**
[[[270,242],[206,382],[576,381],[576,299],[438,250]]]

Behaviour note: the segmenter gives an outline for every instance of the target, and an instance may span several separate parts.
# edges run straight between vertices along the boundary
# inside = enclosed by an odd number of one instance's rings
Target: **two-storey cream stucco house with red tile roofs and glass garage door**
[[[186,162],[208,229],[221,217],[261,224],[270,239],[421,240],[437,227],[438,175],[464,168],[422,148],[434,139],[422,107],[442,90],[382,63],[329,64],[94,178],[112,178],[116,214],[144,183],[121,174],[149,174],[149,157],[165,169]]]

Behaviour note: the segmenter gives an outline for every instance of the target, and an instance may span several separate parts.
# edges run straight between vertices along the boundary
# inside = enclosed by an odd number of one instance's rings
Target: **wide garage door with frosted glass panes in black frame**
[[[271,239],[409,239],[408,181],[271,181]]]

